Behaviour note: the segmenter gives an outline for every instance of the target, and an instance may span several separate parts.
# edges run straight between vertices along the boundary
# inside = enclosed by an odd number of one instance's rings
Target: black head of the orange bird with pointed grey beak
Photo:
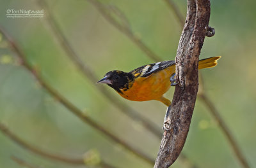
[[[102,80],[97,83],[106,83],[109,87],[114,88],[117,92],[121,92],[121,88],[128,88],[130,81],[132,80],[132,75],[129,73],[124,73],[123,71],[110,71],[105,74]]]

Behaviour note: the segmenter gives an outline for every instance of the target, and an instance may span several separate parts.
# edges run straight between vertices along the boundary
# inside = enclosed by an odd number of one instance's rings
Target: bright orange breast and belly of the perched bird
[[[150,101],[159,99],[171,86],[170,77],[175,73],[175,66],[167,67],[147,77],[136,78],[131,88],[120,94],[131,101]]]

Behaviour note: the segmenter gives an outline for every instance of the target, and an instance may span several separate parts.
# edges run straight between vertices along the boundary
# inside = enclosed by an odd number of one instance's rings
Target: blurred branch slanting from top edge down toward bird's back
[[[129,39],[131,39],[131,41],[135,43],[143,52],[145,52],[147,56],[150,57],[150,59],[156,62],[161,60],[156,55],[156,53],[150,50],[150,48],[148,48],[148,46],[145,45],[145,43],[143,43],[143,41],[141,41],[141,39],[131,31],[131,27],[127,26],[127,24],[120,24],[118,21],[115,20],[115,18],[111,15],[111,12],[110,12],[111,8],[107,8],[104,4],[100,3],[100,1],[98,0],[87,0],[87,1],[93,4],[93,6],[95,6],[95,8],[101,13],[102,17],[108,20],[108,22],[113,26],[115,26],[116,29],[118,29],[120,32],[124,33]],[[119,18],[120,20],[124,20],[122,19],[122,17],[119,17]],[[124,15],[123,15],[123,18],[124,18]]]

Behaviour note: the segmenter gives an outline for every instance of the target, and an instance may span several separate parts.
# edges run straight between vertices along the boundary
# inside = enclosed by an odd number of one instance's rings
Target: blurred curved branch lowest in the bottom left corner
[[[86,160],[90,159],[90,158],[86,158],[86,156],[81,157],[81,158],[64,157],[59,154],[56,155],[53,153],[49,153],[48,151],[41,150],[38,147],[33,146],[32,144],[26,143],[19,136],[15,135],[13,132],[11,132],[5,125],[3,125],[3,123],[0,123],[0,130],[1,130],[1,132],[3,132],[3,134],[5,136],[12,139],[12,141],[14,143],[19,144],[19,146],[21,146],[22,148],[24,148],[28,151],[31,151],[31,152],[35,153],[36,155],[40,155],[42,157],[49,158],[51,160],[56,160],[58,162],[63,162],[63,163],[72,164],[72,165],[86,165]],[[113,167],[111,165],[106,164],[102,160],[100,160],[98,165],[100,165],[101,167]]]

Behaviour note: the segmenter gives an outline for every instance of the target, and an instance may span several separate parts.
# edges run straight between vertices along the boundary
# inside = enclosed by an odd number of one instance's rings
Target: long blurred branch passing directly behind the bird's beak
[[[152,132],[152,134],[155,134],[157,137],[161,137],[161,129],[159,129],[155,123],[151,122],[145,116],[140,115],[138,111],[135,111],[134,109],[130,108],[126,104],[122,103],[119,99],[116,99],[116,97],[109,92],[106,87],[103,85],[95,85],[95,82],[99,80],[97,76],[95,76],[95,73],[93,73],[93,70],[88,67],[83,60],[80,59],[79,55],[73,50],[70,43],[68,43],[68,40],[65,38],[65,35],[61,31],[60,27],[56,23],[56,20],[54,20],[53,15],[51,13],[51,10],[49,10],[49,6],[45,3],[44,0],[38,1],[38,3],[44,7],[45,12],[45,18],[47,20],[47,24],[52,30],[52,34],[54,37],[56,37],[56,40],[60,43],[63,50],[67,53],[67,56],[76,64],[77,68],[84,74],[86,78],[88,78],[93,86],[97,87],[97,90],[99,90],[102,95],[106,97],[108,101],[110,101],[114,106],[116,106],[122,113],[125,113],[125,115],[132,118],[132,120],[139,122],[143,127],[145,127],[148,131]],[[111,7],[113,9],[116,9],[115,7]],[[116,10],[118,12],[118,10]],[[119,13],[121,13],[119,11]],[[119,14],[121,15],[121,14]],[[124,16],[122,16],[124,17]],[[124,21],[128,22],[128,21]]]

